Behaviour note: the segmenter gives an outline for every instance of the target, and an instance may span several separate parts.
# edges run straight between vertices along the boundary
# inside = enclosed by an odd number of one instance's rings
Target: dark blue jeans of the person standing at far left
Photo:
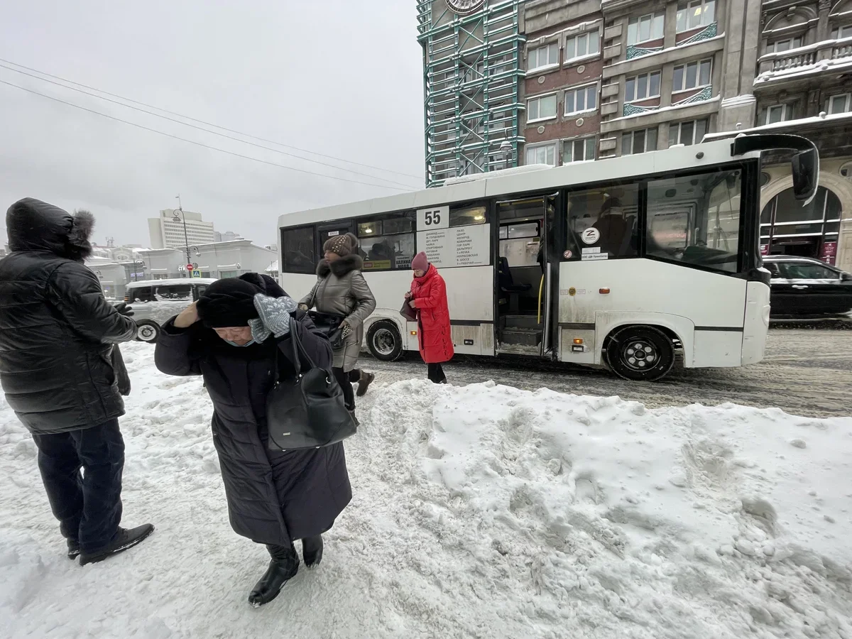
[[[124,440],[118,419],[70,433],[33,434],[32,439],[62,535],[78,542],[83,552],[109,544],[121,521]]]

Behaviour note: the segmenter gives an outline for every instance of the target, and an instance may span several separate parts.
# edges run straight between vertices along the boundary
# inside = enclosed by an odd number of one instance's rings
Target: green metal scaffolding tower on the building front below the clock
[[[485,0],[459,15],[446,0],[417,0],[428,187],[518,164],[522,4]]]

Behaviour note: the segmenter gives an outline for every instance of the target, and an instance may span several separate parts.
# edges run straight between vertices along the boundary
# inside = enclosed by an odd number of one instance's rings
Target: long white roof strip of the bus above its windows
[[[744,157],[758,158],[760,153],[748,153]],[[640,155],[625,155],[620,158],[595,162],[566,164],[550,167],[547,170],[526,170],[509,174],[505,171],[493,171],[483,174],[482,179],[475,181],[462,181],[458,184],[424,188],[383,198],[285,213],[279,216],[278,222],[279,227],[296,227],[323,220],[374,216],[395,210],[416,210],[451,202],[544,191],[577,184],[594,184],[636,176],[666,174],[684,169],[722,164],[730,162],[731,159],[729,141],[711,141],[690,147],[669,148]],[[527,169],[531,168],[533,167],[527,167]]]

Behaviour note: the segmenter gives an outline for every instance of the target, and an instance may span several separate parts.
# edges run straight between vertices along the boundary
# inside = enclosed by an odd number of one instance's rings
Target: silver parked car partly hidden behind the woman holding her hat
[[[155,343],[160,325],[180,313],[199,299],[216,279],[147,279],[130,282],[124,293],[124,302],[133,307],[133,319],[139,330],[136,339]]]

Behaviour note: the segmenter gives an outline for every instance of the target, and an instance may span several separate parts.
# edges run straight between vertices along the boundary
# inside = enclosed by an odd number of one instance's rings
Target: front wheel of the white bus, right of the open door
[[[675,346],[653,326],[625,326],[609,337],[606,356],[609,367],[619,377],[654,382],[671,371]]]

